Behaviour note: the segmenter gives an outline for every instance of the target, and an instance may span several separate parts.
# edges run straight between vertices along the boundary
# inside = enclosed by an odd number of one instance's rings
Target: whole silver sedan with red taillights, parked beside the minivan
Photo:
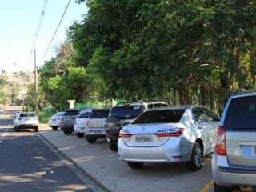
[[[213,151],[218,121],[204,106],[148,110],[120,132],[118,158],[132,169],[144,162],[188,162],[200,170],[203,155]]]

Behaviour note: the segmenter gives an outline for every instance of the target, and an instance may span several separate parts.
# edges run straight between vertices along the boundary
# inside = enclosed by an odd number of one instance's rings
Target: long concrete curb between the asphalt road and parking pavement
[[[72,164],[74,164],[74,166],[80,170],[83,174],[86,175],[86,177],[90,178],[90,180],[92,182],[94,182],[97,186],[99,186],[102,191],[105,192],[111,192],[110,189],[108,189],[106,186],[104,186],[102,184],[102,182],[100,182],[97,178],[94,178],[94,176],[92,176],[91,174],[89,174],[86,170],[84,170],[82,168],[82,166],[79,166],[78,163],[74,162],[74,160],[72,158],[70,158],[69,156],[67,156],[66,154],[64,154],[61,150],[58,149],[57,146],[54,146],[54,144],[52,142],[50,142],[43,134],[41,134],[40,132],[38,132],[39,136],[42,138],[43,141],[45,141],[46,143],[48,143],[52,148],[54,148],[54,150],[57,150],[59,154],[62,154],[62,156],[64,158],[66,158],[66,160],[68,160],[69,162],[71,162]],[[86,184],[86,183],[85,183]]]

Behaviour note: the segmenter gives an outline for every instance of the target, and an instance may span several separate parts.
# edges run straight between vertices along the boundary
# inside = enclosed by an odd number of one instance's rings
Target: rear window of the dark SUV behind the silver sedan
[[[141,105],[137,106],[115,106],[112,108],[110,112],[110,116],[114,116],[116,118],[129,119],[129,118],[137,118],[139,114],[142,113]]]

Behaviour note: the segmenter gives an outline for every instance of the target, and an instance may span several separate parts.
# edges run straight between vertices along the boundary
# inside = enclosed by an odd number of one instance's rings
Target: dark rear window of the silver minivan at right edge
[[[233,98],[226,114],[227,130],[256,129],[256,96]]]

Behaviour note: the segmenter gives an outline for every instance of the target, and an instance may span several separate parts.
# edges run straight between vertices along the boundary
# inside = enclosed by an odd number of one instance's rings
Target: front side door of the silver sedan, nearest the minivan
[[[206,114],[206,124],[208,125],[206,129],[206,134],[209,135],[209,142],[207,143],[209,144],[210,149],[208,152],[211,153],[214,149],[214,138],[218,129],[219,117],[210,109],[203,108],[203,111]]]

